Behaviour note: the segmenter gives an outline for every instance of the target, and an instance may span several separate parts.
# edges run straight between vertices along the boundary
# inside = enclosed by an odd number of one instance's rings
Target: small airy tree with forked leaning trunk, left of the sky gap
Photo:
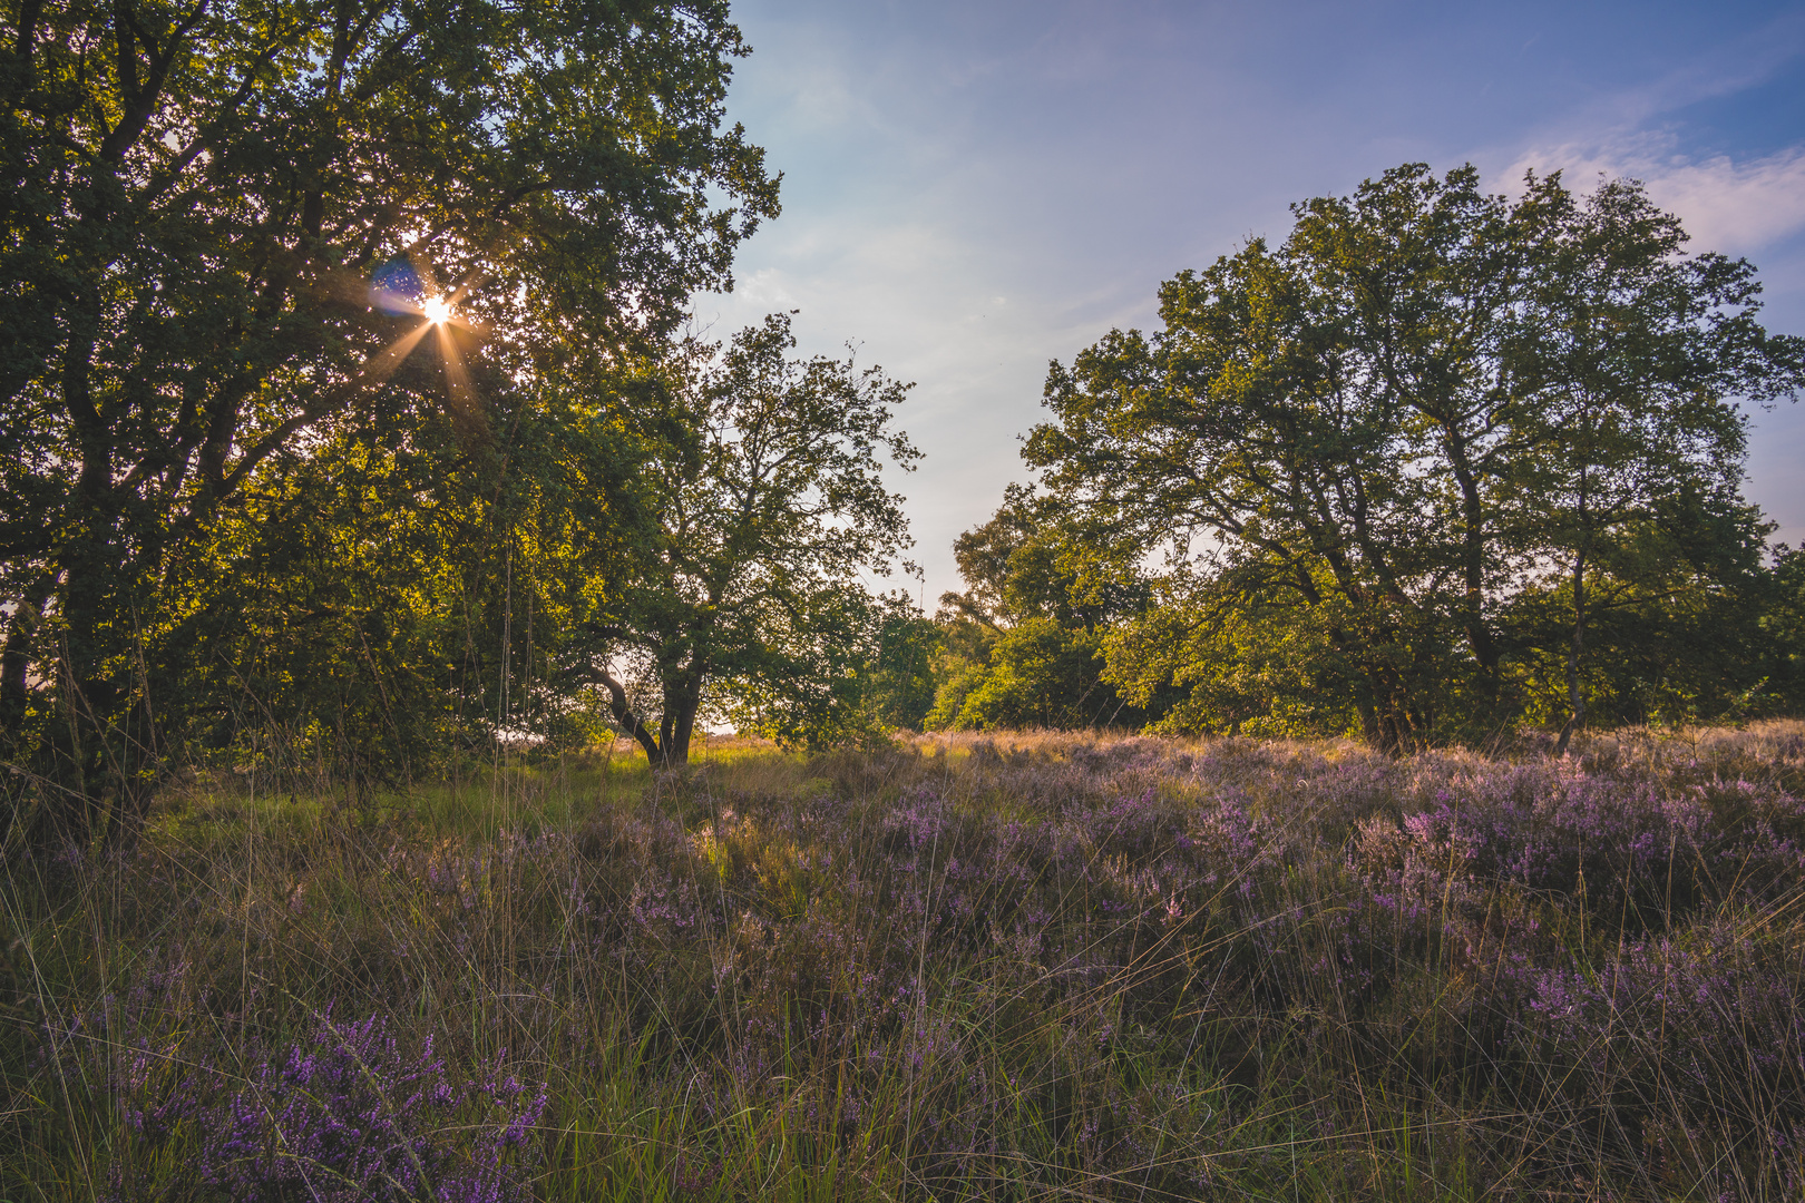
[[[890,427],[910,386],[794,346],[773,314],[588,402],[637,442],[641,471],[621,503],[630,586],[563,678],[606,689],[653,765],[688,763],[709,703],[783,743],[848,734],[879,662],[884,606],[861,574],[908,545],[879,455],[919,458]]]

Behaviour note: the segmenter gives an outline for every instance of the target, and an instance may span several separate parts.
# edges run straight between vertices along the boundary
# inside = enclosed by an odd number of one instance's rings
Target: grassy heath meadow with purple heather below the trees
[[[1796,1199],[1805,723],[197,776],[0,880],[0,1199]]]

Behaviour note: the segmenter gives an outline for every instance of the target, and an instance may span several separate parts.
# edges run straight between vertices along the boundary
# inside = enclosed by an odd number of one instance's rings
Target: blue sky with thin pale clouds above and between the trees
[[[1747,256],[1805,334],[1805,4],[747,0],[729,121],[783,173],[740,247],[727,337],[800,310],[803,354],[913,381],[928,610],[953,539],[1031,480],[1041,384],[1157,287],[1289,206],[1402,162],[1634,177],[1689,249]],[[1805,402],[1758,411],[1745,496],[1805,543]],[[893,473],[893,469],[892,469]],[[897,581],[901,583],[901,581]],[[877,581],[877,584],[884,584]]]

